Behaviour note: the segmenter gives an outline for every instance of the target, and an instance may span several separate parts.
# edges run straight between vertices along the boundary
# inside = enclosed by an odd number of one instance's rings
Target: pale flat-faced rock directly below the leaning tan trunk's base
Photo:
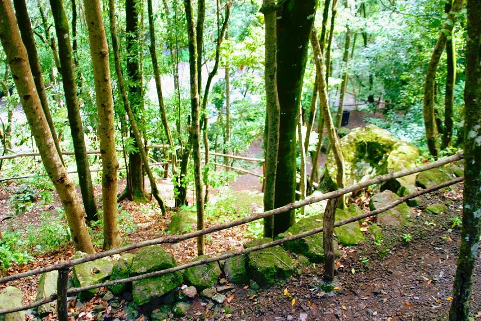
[[[85,255],[85,253],[78,251],[75,253],[75,258],[80,258]],[[73,284],[75,287],[82,287],[107,281],[112,274],[113,266],[114,263],[112,263],[107,257],[74,265]],[[98,289],[83,291],[78,294],[78,297],[80,300],[85,302],[90,300],[97,293],[97,291]]]

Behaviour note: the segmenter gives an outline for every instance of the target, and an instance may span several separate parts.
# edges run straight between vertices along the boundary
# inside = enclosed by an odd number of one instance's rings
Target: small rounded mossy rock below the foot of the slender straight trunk
[[[194,258],[192,261],[198,261],[208,257],[210,256],[201,255]],[[184,279],[187,284],[193,285],[199,291],[202,291],[213,286],[215,282],[217,282],[221,273],[219,264],[217,262],[210,262],[185,269]]]

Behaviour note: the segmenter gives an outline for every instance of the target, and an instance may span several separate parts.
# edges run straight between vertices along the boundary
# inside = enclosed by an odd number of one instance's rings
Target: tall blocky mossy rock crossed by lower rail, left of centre
[[[164,251],[160,245],[142,247],[132,260],[131,276],[164,270],[176,266],[174,257]],[[154,276],[133,282],[132,295],[134,302],[141,306],[154,298],[158,298],[183,282],[182,274],[174,272]]]

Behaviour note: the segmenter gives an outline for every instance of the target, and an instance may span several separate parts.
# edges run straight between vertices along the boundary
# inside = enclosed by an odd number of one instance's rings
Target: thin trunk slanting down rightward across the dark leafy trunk
[[[134,132],[134,137],[136,139],[137,145],[141,146],[142,136],[140,134],[140,131],[138,130],[137,122],[135,120],[134,113],[132,112],[132,108],[130,107],[129,99],[127,97],[127,89],[124,82],[124,76],[122,74],[122,67],[120,62],[120,50],[119,50],[119,44],[117,41],[117,30],[116,30],[117,26],[115,22],[115,1],[114,0],[109,0],[109,18],[110,18],[110,34],[112,37],[112,47],[114,51],[114,60],[115,60],[115,72],[117,74],[119,91],[122,96],[122,102],[124,103],[125,110],[129,117],[130,126],[132,128],[132,131]],[[150,182],[150,189],[152,191],[152,195],[157,201],[157,203],[159,204],[160,209],[162,211],[162,215],[165,215],[166,213],[165,203],[159,195],[159,191],[157,189],[157,183],[155,182],[155,178],[152,174],[152,170],[149,167],[147,152],[143,148],[139,148],[139,152],[140,152],[140,157],[142,159],[143,166],[145,168],[145,171],[147,172],[147,177]]]

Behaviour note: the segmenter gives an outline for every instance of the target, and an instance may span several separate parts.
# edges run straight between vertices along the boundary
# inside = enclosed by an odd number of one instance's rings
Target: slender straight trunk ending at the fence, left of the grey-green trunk
[[[187,34],[189,36],[189,67],[191,80],[191,117],[192,124],[190,136],[192,139],[192,152],[194,158],[194,181],[196,185],[196,207],[197,207],[197,229],[204,229],[204,196],[202,188],[201,168],[201,144],[200,144],[200,121],[199,121],[199,86],[198,86],[198,48],[196,39],[196,28],[192,0],[184,0],[185,14],[187,18]],[[202,255],[205,252],[204,236],[197,238],[197,253]]]

